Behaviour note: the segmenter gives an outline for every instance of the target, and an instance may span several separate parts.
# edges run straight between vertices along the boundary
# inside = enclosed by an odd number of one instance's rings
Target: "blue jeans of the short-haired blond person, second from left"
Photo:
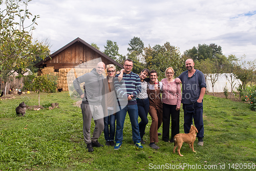
[[[104,117],[104,137],[106,141],[114,141],[116,131],[116,116],[114,110],[108,110],[108,115]],[[110,127],[109,127],[110,125]]]

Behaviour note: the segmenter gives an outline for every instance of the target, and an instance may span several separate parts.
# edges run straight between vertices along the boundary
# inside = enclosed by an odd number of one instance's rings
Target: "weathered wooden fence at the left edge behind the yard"
[[[16,92],[16,89],[22,89],[24,86],[24,77],[22,78],[16,78],[16,77],[13,77],[11,81],[8,81],[7,84],[6,82],[0,78],[0,90],[1,92],[3,91],[4,94],[5,94],[5,89],[6,89],[6,94],[15,94],[17,93]],[[10,89],[12,90],[10,92]]]

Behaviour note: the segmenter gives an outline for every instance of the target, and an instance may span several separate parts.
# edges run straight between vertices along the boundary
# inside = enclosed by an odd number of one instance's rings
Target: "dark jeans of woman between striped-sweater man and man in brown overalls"
[[[146,124],[148,123],[147,114],[148,109],[150,109],[150,100],[148,100],[148,98],[137,99],[137,105],[139,110],[139,117],[141,119],[139,123],[140,138],[143,138],[143,135],[145,134]]]

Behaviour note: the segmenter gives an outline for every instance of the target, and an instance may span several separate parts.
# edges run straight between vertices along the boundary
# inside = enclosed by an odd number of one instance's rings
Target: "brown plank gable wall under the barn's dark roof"
[[[87,67],[95,68],[97,63],[93,63],[93,59],[99,57],[101,57],[101,60],[105,65],[112,63],[91,48],[83,45],[81,42],[76,42],[74,45],[60,52],[45,63],[47,67],[54,67],[55,70],[58,70],[61,68],[74,68],[83,62],[90,63],[90,61],[92,61],[91,65],[88,65]]]

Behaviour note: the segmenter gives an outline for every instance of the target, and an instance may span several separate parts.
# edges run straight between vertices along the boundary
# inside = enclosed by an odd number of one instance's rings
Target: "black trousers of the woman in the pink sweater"
[[[169,141],[170,118],[172,119],[172,133],[170,140],[180,133],[180,110],[176,111],[177,105],[163,103],[163,141]]]

